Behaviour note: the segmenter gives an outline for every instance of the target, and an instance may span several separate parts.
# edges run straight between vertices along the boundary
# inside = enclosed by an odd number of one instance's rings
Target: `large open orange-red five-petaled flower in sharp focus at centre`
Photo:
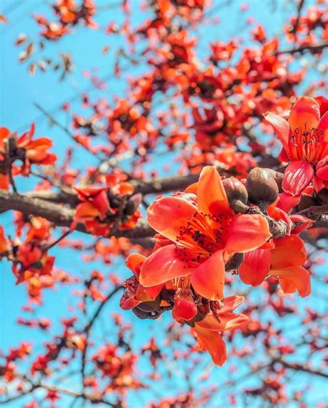
[[[271,237],[268,222],[262,215],[235,215],[214,167],[203,168],[188,191],[196,194],[162,197],[149,206],[148,222],[167,242],[145,260],[139,280],[147,287],[183,278],[181,287],[221,300],[225,263],[262,246]]]

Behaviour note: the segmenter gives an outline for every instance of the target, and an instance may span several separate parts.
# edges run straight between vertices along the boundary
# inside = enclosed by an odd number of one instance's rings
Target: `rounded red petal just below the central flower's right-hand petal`
[[[258,286],[270,272],[271,251],[256,249],[244,255],[244,262],[239,266],[242,282]]]

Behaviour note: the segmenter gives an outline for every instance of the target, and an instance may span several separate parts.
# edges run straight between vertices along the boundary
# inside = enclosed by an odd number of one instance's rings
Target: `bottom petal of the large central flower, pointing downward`
[[[219,250],[192,271],[191,284],[204,298],[221,300],[224,298],[225,273],[223,251]]]

